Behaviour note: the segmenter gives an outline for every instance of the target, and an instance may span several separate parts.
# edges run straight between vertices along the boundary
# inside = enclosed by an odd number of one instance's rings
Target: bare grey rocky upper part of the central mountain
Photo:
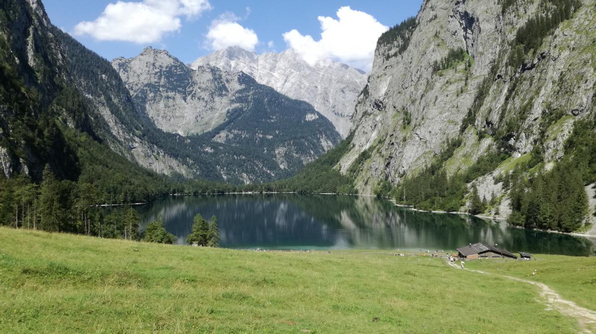
[[[180,135],[224,123],[238,77],[209,66],[191,70],[167,51],[148,47],[137,57],[112,61],[135,104],[157,127]]]

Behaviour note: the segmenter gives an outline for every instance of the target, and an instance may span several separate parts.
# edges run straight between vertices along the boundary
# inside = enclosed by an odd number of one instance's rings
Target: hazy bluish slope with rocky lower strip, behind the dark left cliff
[[[184,177],[197,174],[193,161],[173,157],[143,132],[156,130],[135,110],[131,96],[111,65],[60,30],[64,63],[73,85],[88,99],[93,114],[101,117],[95,132],[118,154],[156,173]],[[92,64],[92,65],[91,65]]]

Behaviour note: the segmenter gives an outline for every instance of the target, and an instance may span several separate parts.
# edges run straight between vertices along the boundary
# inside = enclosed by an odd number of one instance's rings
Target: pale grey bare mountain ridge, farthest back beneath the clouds
[[[367,74],[361,70],[334,61],[311,66],[293,49],[257,55],[231,46],[198,58],[191,67],[207,64],[228,72],[243,71],[262,85],[308,102],[333,123],[343,138],[350,132],[356,98],[367,82]]]

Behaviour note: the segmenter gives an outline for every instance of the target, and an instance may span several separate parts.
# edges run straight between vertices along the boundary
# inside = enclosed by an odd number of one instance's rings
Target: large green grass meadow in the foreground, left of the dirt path
[[[535,287],[438,259],[232,251],[7,228],[0,241],[2,334],[579,330],[575,319],[546,310]],[[577,280],[576,271],[567,277]],[[589,299],[572,283],[560,288],[572,300]]]

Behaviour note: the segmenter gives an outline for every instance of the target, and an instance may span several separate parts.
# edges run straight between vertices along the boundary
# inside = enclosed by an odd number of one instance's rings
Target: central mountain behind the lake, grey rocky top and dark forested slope
[[[210,162],[209,173],[198,170],[201,177],[233,183],[280,179],[340,141],[333,124],[311,105],[247,74],[209,65],[193,70],[153,48],[112,65],[139,114],[178,134],[194,152],[191,161]]]

